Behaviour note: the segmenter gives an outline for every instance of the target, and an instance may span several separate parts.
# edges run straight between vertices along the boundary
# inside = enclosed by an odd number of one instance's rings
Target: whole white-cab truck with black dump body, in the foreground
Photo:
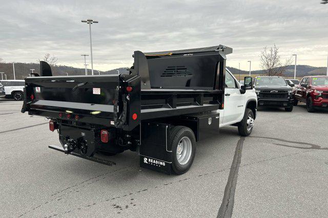
[[[128,74],[26,78],[22,112],[50,119],[61,146],[49,148],[111,164],[101,154],[138,152],[140,166],[182,174],[191,167],[196,142],[238,126],[251,134],[257,98],[252,77],[240,85],[226,70],[232,49],[134,52]],[[101,153],[101,154],[100,154]]]

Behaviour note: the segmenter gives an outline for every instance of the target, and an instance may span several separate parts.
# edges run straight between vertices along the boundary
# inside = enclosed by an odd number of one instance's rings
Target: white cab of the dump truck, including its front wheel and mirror
[[[251,77],[248,80],[251,82]],[[223,110],[217,112],[220,113],[220,127],[235,125],[238,126],[240,135],[251,134],[257,112],[257,95],[252,85],[244,88],[228,69]]]

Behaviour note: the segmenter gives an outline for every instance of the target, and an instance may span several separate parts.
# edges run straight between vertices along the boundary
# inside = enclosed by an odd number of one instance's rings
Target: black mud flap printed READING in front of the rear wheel
[[[171,174],[171,127],[165,123],[141,123],[140,167]]]

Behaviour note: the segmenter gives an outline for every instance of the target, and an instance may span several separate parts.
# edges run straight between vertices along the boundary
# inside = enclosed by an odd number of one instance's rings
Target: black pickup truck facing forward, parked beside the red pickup
[[[254,79],[254,88],[259,106],[284,107],[285,111],[293,111],[294,83],[288,85],[280,76],[258,76]]]

